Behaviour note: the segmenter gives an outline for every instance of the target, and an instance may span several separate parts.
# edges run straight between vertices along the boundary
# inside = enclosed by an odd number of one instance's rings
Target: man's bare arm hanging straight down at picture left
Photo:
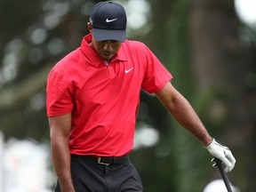
[[[70,172],[70,152],[68,147],[71,130],[71,113],[48,118],[52,149],[52,164],[60,183],[61,192],[75,192]]]

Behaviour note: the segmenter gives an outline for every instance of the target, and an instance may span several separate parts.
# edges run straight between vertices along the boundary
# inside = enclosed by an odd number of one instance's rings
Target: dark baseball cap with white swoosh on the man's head
[[[126,39],[126,13],[116,2],[100,2],[92,7],[90,22],[92,35],[96,41]]]

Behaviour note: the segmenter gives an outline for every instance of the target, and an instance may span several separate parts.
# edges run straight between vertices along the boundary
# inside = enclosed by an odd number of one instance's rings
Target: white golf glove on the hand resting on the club
[[[209,145],[205,146],[204,148],[206,148],[212,156],[222,161],[222,163],[225,165],[224,171],[226,173],[231,172],[231,170],[234,168],[236,164],[236,159],[232,155],[229,148],[222,146],[220,142],[218,142],[215,139],[213,139],[212,142]],[[215,164],[213,164],[213,166],[215,166]]]

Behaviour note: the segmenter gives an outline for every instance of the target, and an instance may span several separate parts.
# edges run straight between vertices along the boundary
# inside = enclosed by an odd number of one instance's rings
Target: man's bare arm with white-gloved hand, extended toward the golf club
[[[212,156],[219,158],[226,165],[226,172],[230,172],[234,168],[236,159],[231,151],[212,138],[196,115],[194,108],[170,82],[165,84],[159,92],[156,92],[156,96],[182,127],[200,140]]]

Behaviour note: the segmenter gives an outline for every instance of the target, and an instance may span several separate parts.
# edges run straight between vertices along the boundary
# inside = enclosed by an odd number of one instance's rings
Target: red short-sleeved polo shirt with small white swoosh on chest
[[[157,92],[172,78],[145,44],[126,40],[108,64],[84,37],[47,81],[48,116],[72,113],[71,154],[123,156],[132,151],[140,89]]]

